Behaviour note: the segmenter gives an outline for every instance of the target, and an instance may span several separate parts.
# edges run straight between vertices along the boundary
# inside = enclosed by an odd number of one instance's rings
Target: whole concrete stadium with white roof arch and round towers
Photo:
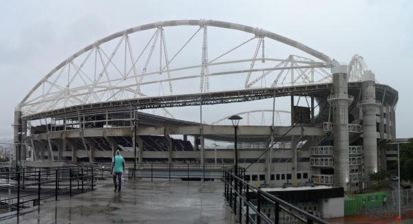
[[[398,92],[377,82],[361,56],[349,59],[222,21],[132,27],[87,45],[34,85],[14,112],[14,142],[23,143],[14,157],[105,164],[121,150],[138,168],[232,165],[226,109],[257,102],[266,108],[237,111],[247,181],[357,192],[386,169]],[[202,118],[207,107],[211,122]],[[251,122],[253,113],[262,122]]]

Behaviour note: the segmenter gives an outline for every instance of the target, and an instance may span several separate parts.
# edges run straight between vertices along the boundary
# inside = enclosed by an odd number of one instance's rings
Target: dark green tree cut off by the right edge
[[[400,175],[403,180],[413,181],[413,142],[400,146]]]

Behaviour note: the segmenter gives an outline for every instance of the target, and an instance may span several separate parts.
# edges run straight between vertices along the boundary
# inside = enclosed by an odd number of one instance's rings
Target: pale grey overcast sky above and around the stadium
[[[399,91],[397,137],[413,137],[413,1],[72,0],[1,3],[0,139],[12,137],[17,103],[62,60],[103,36],[174,19],[261,27],[343,62],[359,54]]]

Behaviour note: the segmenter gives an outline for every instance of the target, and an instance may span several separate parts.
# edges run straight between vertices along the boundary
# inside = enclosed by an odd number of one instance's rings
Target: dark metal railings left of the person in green
[[[2,198],[0,209],[17,210],[24,204],[40,205],[41,201],[59,194],[83,193],[94,190],[96,178],[103,170],[96,166],[63,166],[56,168],[7,168],[0,172],[0,191],[17,192],[16,197]],[[23,193],[25,193],[23,195]]]

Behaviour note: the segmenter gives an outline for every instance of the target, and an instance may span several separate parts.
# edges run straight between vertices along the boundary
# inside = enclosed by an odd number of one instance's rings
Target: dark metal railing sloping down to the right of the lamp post
[[[248,212],[248,209],[251,208],[257,214],[257,223],[260,223],[261,219],[262,221],[265,221],[266,223],[273,223],[273,221],[271,221],[271,219],[269,219],[268,216],[266,216],[266,214],[260,211],[260,201],[263,198],[263,199],[267,199],[268,202],[275,204],[275,207],[276,207],[275,210],[278,211],[278,214],[277,213],[275,214],[276,218],[279,217],[279,210],[281,209],[281,210],[284,210],[284,212],[287,212],[288,214],[290,214],[291,216],[295,216],[295,218],[297,218],[299,221],[304,222],[304,223],[313,223],[313,222],[323,223],[323,224],[328,223],[327,221],[324,221],[323,219],[320,219],[319,217],[313,214],[310,214],[304,210],[297,208],[295,205],[292,205],[282,199],[279,199],[278,197],[275,197],[273,194],[270,194],[268,192],[265,192],[264,190],[261,190],[260,188],[252,186],[250,183],[244,181],[244,179],[242,179],[241,177],[235,176],[232,170],[224,170],[224,174],[225,174],[224,181],[225,181],[226,199],[229,201],[229,204],[232,208],[233,207],[232,205],[233,204],[235,205],[235,203],[237,203],[236,197],[239,198],[240,210],[237,212],[237,208],[235,207],[236,205],[234,206],[235,209],[233,210],[235,214],[238,213],[238,216],[240,218],[242,218],[241,208],[242,208],[242,202],[244,202],[244,204],[246,205],[246,212]],[[242,192],[243,192],[242,188],[246,188],[246,190],[244,191],[245,197],[242,195]],[[232,192],[232,190],[234,190],[234,192]],[[253,192],[257,194],[257,208],[255,208],[255,206],[249,202],[249,199],[248,199],[249,190],[252,190]],[[234,199],[232,197],[234,197]],[[295,214],[291,210],[293,210],[297,214]],[[298,214],[301,216],[304,216],[305,218],[302,218]],[[246,217],[246,223],[249,222],[249,219],[250,219],[249,217]],[[279,220],[276,219],[275,223],[279,223]]]

